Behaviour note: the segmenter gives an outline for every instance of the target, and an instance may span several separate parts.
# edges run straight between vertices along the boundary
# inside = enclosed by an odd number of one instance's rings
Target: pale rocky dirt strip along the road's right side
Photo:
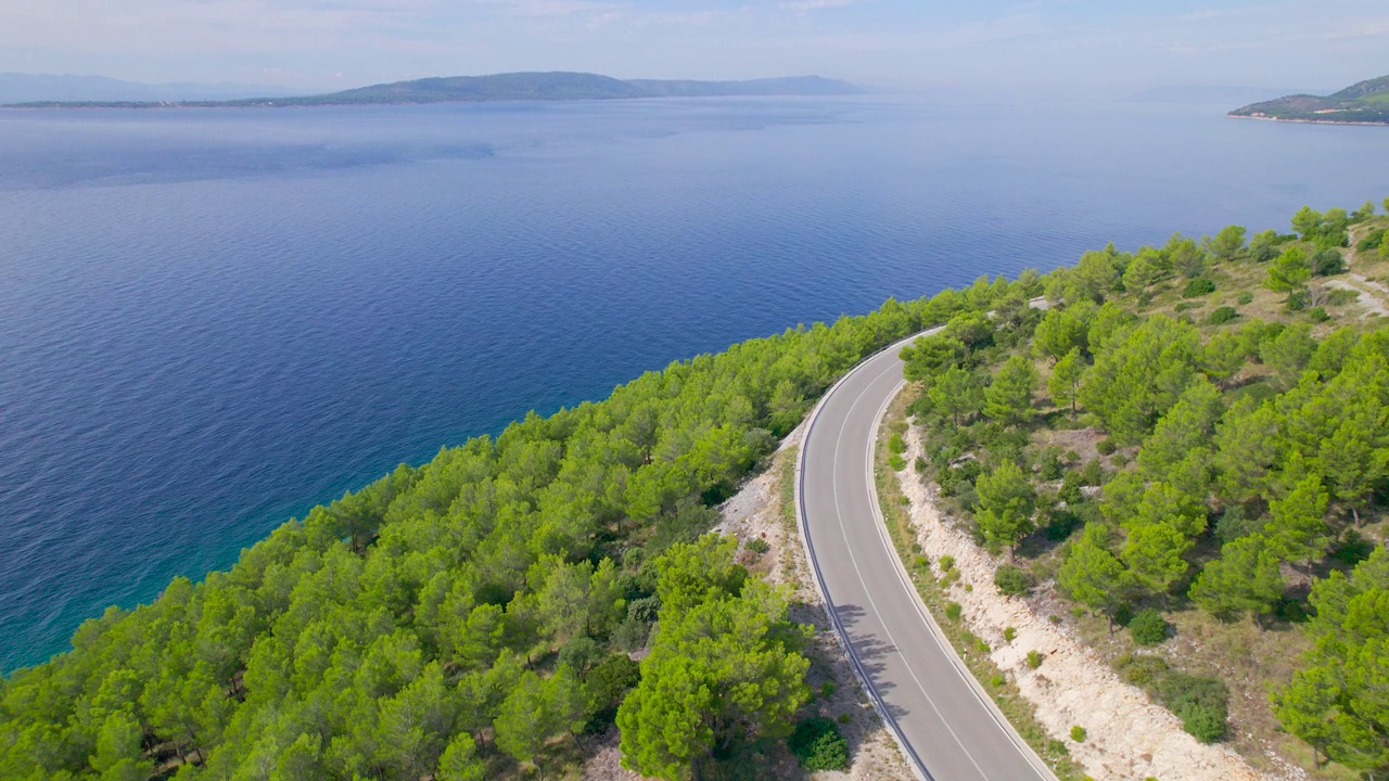
[[[911,500],[910,511],[922,552],[932,561],[954,557],[960,578],[950,598],[963,607],[970,630],[983,638],[993,663],[1036,707],[1038,720],[1053,738],[1065,741],[1071,756],[1096,780],[1147,777],[1190,781],[1253,781],[1297,778],[1260,775],[1233,749],[1206,746],[1182,731],[1181,723],[1147,695],[1125,684],[1061,624],[1047,616],[1058,609],[1046,596],[1035,600],[1007,598],[993,585],[1000,560],[988,554],[964,532],[943,523],[935,496],[911,466],[922,453],[921,434],[907,432],[907,470],[897,479]],[[940,574],[940,573],[938,573]],[[1046,595],[1047,589],[1038,589]],[[1015,636],[1004,639],[1011,627]],[[1028,652],[1043,655],[1036,668]],[[1071,741],[1071,727],[1086,731],[1083,742]]]

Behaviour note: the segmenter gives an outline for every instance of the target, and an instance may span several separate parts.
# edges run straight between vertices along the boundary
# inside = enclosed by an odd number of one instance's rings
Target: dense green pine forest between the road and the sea
[[[614,723],[632,768],[736,777],[740,745],[806,718],[807,663],[785,599],[701,538],[713,507],[856,361],[1036,279],[740,343],[401,466],[0,681],[0,777],[543,775]]]

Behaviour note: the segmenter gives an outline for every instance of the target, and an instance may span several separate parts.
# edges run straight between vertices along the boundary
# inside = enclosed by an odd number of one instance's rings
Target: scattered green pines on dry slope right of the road
[[[1389,220],[1367,203],[1292,227],[1110,246],[1039,279],[1045,307],[954,315],[903,350],[917,466],[1006,557],[1004,593],[1054,586],[1136,646],[1179,610],[1301,632],[1265,710],[1314,768],[1383,777],[1389,289],[1365,274],[1389,270]],[[1225,739],[1226,681],[1138,650],[1124,677]]]

